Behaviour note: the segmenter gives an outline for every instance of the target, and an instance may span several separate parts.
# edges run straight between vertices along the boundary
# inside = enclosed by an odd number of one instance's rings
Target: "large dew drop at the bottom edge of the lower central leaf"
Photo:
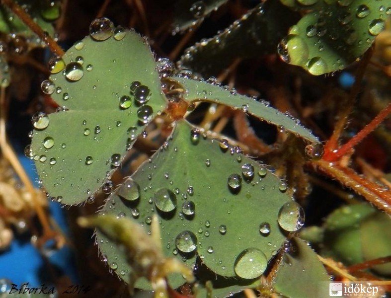
[[[236,258],[234,270],[238,277],[254,279],[259,277],[267,267],[265,254],[257,248],[247,248]]]

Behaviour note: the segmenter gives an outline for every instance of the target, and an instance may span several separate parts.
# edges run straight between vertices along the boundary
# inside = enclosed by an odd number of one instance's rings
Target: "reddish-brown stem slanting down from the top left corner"
[[[33,19],[20,7],[16,2],[12,0],[1,0],[2,3],[9,7],[14,14],[16,14],[24,24],[26,24],[31,31],[38,35],[38,37],[48,46],[48,48],[57,56],[62,57],[65,53],[62,48],[51,38],[47,32],[33,21]]]

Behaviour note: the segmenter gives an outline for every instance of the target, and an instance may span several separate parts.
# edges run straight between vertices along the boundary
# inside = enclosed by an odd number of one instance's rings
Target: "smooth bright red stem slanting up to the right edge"
[[[385,107],[367,126],[365,126],[357,135],[351,138],[346,144],[344,144],[337,151],[332,152],[323,157],[326,161],[336,161],[346,155],[351,149],[360,143],[365,137],[367,137],[372,131],[374,131],[391,113],[391,103]]]

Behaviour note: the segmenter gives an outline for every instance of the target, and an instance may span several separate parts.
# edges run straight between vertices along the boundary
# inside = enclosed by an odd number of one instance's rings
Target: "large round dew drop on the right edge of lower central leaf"
[[[277,221],[284,230],[288,232],[297,231],[304,225],[304,210],[294,201],[285,203],[278,212]]]

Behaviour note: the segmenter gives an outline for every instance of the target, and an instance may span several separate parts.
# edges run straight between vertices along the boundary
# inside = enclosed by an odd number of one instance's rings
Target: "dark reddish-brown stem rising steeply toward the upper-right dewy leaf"
[[[354,102],[356,100],[357,94],[360,92],[361,88],[361,82],[364,77],[365,70],[367,69],[367,66],[371,60],[373,54],[373,49],[370,48],[365,54],[364,58],[361,60],[361,63],[357,69],[355,81],[354,84],[350,90],[348,99],[346,102],[344,102],[344,108],[339,113],[339,120],[336,123],[334,127],[333,134],[331,135],[330,139],[327,141],[325,147],[324,147],[324,156],[323,158],[328,158],[328,154],[333,154],[333,150],[338,147],[338,140],[341,136],[343,130],[345,129],[345,126],[348,122],[349,114],[352,111]]]

